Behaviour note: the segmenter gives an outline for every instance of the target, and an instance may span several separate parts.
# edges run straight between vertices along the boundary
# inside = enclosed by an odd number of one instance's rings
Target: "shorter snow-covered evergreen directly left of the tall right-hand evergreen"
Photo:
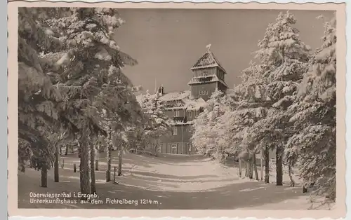
[[[265,78],[262,77],[262,65],[250,63],[241,76],[242,83],[237,85],[232,94],[232,111],[223,115],[222,123],[227,126],[227,151],[246,163],[246,177],[253,178],[256,169],[256,153],[261,149],[262,139],[255,139],[250,128],[258,121],[267,117],[271,102],[265,96]],[[256,135],[256,134],[254,134]],[[266,170],[269,173],[269,170]],[[241,168],[239,170],[241,173]],[[269,177],[269,174],[266,177]],[[268,182],[269,179],[266,179]]]

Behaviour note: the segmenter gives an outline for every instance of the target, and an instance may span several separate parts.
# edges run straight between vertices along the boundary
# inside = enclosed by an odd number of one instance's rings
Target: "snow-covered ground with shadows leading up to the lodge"
[[[116,152],[114,152],[116,154]],[[275,186],[261,181],[240,179],[235,165],[220,166],[202,156],[139,156],[124,154],[123,175],[119,184],[105,182],[106,163],[101,156],[95,172],[99,199],[103,204],[53,205],[29,202],[29,193],[62,193],[79,191],[79,158],[62,156],[60,182],[53,181],[53,169],[48,172],[48,188],[41,188],[40,172],[27,169],[18,174],[19,208],[123,208],[123,209],[307,209],[308,195],[300,187]],[[77,172],[73,172],[73,164]],[[112,160],[117,167],[117,155]],[[244,170],[243,170],[244,172]],[[258,171],[260,175],[260,171]],[[274,172],[272,172],[274,173]],[[275,177],[270,177],[273,182]],[[112,177],[113,179],[113,177]],[[289,177],[284,176],[289,182]],[[132,204],[107,204],[106,198],[138,201]],[[140,200],[147,203],[140,204]],[[144,202],[145,203],[145,202]]]

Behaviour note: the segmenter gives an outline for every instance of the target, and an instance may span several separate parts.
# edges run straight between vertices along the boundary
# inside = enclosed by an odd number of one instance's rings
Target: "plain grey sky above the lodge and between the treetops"
[[[135,85],[154,91],[154,81],[163,84],[165,92],[187,90],[192,78],[190,68],[211,51],[227,71],[230,88],[239,84],[241,71],[253,60],[257,43],[265,29],[280,11],[269,10],[197,10],[197,9],[120,9],[126,23],[117,29],[116,40],[121,50],[138,65],[126,67],[124,73]],[[333,11],[290,11],[297,19],[301,39],[312,49],[322,41],[324,22]]]

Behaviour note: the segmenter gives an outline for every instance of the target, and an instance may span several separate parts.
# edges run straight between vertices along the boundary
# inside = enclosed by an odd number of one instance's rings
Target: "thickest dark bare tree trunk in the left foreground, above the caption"
[[[79,175],[80,175],[80,185],[81,185],[81,193],[90,194],[90,180],[89,180],[89,146],[88,146],[88,137],[84,135],[81,137],[80,144],[80,164],[79,164]],[[82,200],[86,200],[86,198],[81,198]]]

